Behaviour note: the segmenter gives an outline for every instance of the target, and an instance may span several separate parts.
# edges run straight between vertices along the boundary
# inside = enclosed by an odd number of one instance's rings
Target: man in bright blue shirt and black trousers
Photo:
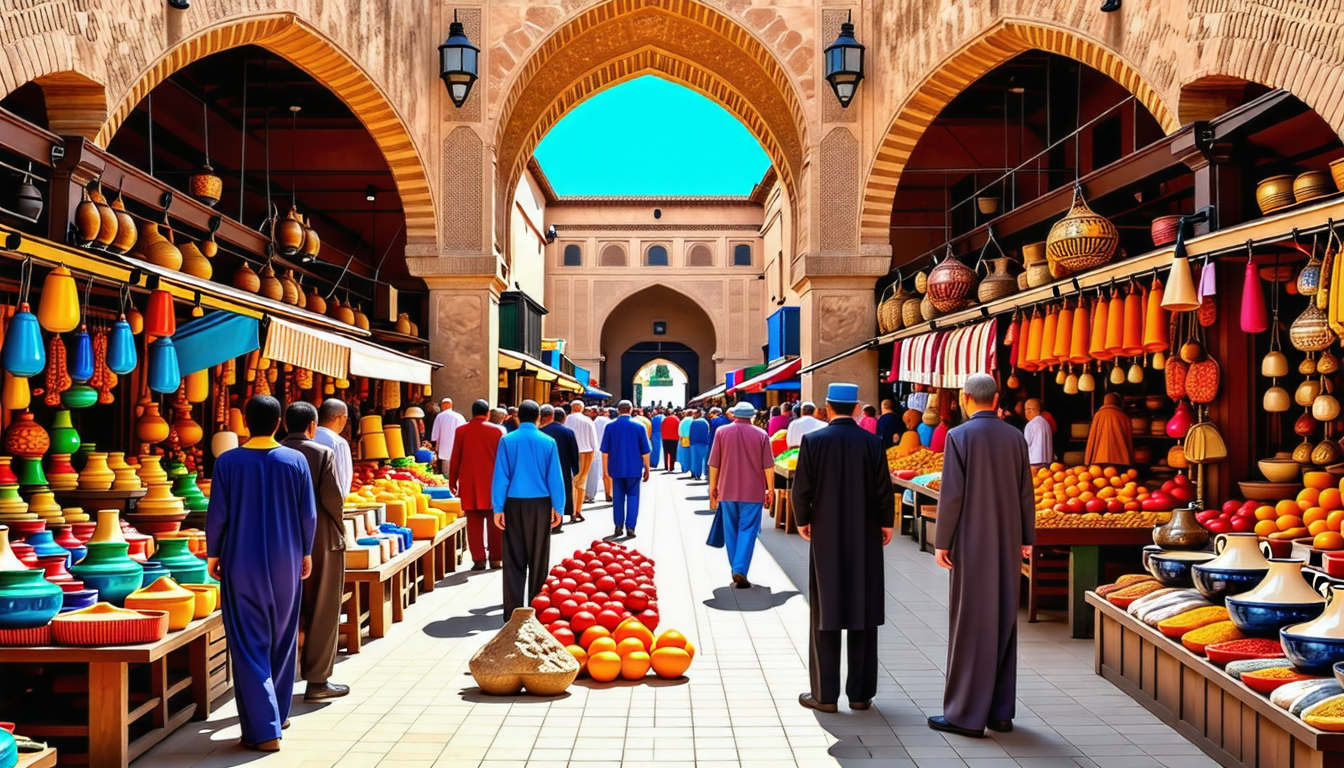
[[[551,529],[560,525],[564,476],[555,440],[536,428],[540,406],[524,399],[519,426],[500,438],[491,483],[495,525],[504,531],[504,619],[532,603],[551,568]]]

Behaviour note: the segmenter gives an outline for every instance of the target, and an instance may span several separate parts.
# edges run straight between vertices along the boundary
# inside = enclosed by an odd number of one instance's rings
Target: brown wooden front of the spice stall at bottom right
[[[1097,615],[1097,674],[1223,765],[1344,765],[1344,733],[1317,730],[1270,703],[1180,640],[1087,593]]]

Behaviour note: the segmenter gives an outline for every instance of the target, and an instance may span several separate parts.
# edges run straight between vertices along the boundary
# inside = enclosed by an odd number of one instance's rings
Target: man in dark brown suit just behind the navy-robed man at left
[[[340,629],[341,592],[345,589],[345,492],[336,476],[336,452],[319,443],[317,409],[293,402],[285,409],[285,440],[308,460],[317,502],[313,530],[313,572],[304,580],[300,627],[304,635],[300,674],[308,682],[304,701],[324,701],[349,693],[348,686],[328,682],[336,666],[336,635]]]

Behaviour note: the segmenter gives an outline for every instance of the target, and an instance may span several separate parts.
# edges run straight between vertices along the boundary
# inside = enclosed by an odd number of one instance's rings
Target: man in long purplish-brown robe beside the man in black
[[[938,565],[952,570],[948,683],[929,728],[1012,730],[1021,558],[1036,541],[1027,440],[997,416],[999,385],[966,378],[966,421],[948,432],[938,498]]]

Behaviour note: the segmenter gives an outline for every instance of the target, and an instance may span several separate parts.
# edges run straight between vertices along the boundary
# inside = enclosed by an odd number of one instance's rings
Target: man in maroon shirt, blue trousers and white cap
[[[715,506],[710,546],[727,546],[732,584],[747,589],[761,510],[774,498],[774,455],[770,436],[751,424],[754,405],[742,401],[728,413],[734,421],[719,428],[710,449],[710,503]]]

